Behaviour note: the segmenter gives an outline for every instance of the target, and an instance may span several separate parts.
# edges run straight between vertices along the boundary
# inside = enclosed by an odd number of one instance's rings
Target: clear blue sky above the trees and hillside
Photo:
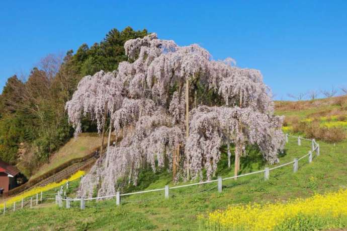
[[[347,87],[347,1],[2,1],[0,92],[48,53],[126,26],[262,71],[277,99]]]

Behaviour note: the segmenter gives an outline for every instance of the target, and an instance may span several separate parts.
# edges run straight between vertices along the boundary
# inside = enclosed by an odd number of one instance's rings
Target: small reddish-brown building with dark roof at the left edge
[[[0,189],[7,192],[19,185],[19,170],[12,165],[0,160]]]

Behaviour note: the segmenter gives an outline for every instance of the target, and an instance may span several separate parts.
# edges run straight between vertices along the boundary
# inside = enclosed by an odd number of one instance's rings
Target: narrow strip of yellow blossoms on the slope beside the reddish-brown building
[[[20,195],[11,197],[9,200],[6,201],[6,204],[7,204],[6,206],[10,206],[15,201],[22,200],[22,198],[31,197],[31,196],[36,195],[37,193],[40,194],[41,192],[46,192],[46,191],[52,190],[52,189],[57,188],[61,185],[64,185],[67,181],[73,181],[73,180],[79,179],[81,176],[84,176],[84,175],[85,175],[84,171],[78,171],[75,174],[73,174],[69,179],[62,180],[58,183],[56,183],[56,182],[50,183],[50,184],[43,186],[43,187],[33,188],[33,189],[31,189],[27,192],[24,192]],[[4,208],[4,203],[0,204],[0,208]]]

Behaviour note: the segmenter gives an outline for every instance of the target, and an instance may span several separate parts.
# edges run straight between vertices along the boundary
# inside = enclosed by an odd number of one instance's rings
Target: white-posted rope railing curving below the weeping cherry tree
[[[319,144],[315,141],[315,139],[307,139],[307,138],[303,138],[300,136],[294,136],[294,135],[289,135],[286,134],[286,142],[288,143],[288,137],[293,137],[293,138],[297,138],[298,140],[298,145],[301,145],[301,140],[307,140],[307,141],[311,141],[311,150],[304,156],[302,156],[301,158],[295,158],[294,161],[279,165],[279,166],[275,166],[273,168],[265,168],[264,170],[259,170],[259,171],[255,171],[255,172],[250,172],[250,173],[245,173],[245,174],[241,174],[241,175],[237,175],[237,176],[232,176],[232,177],[226,177],[226,178],[222,178],[222,177],[218,177],[217,180],[209,180],[209,181],[203,181],[203,182],[197,182],[197,183],[191,183],[191,184],[186,184],[186,185],[179,185],[179,186],[173,186],[173,187],[169,187],[168,185],[165,185],[164,188],[159,188],[159,189],[150,189],[150,190],[145,190],[145,191],[138,191],[138,192],[131,192],[131,193],[123,193],[121,194],[120,192],[117,192],[114,195],[107,195],[107,196],[101,196],[101,197],[91,197],[91,198],[68,198],[65,195],[63,195],[63,187],[67,187],[69,185],[69,182],[66,182],[63,186],[60,187],[60,190],[56,193],[56,194],[51,194],[51,195],[56,195],[55,196],[55,203],[57,205],[59,205],[59,207],[63,206],[63,201],[65,201],[66,203],[66,208],[70,208],[70,203],[73,201],[80,201],[80,208],[81,209],[85,209],[85,202],[86,201],[92,201],[92,200],[102,200],[102,199],[107,199],[107,198],[114,198],[116,197],[116,205],[120,205],[121,204],[121,197],[124,196],[130,196],[130,195],[135,195],[135,194],[144,194],[144,193],[150,193],[150,192],[158,192],[158,191],[164,191],[164,197],[165,199],[169,198],[169,190],[172,189],[179,189],[179,188],[184,188],[184,187],[190,187],[190,186],[194,186],[194,185],[204,185],[204,184],[209,184],[209,183],[213,183],[213,182],[217,182],[217,186],[213,186],[212,188],[208,189],[208,190],[203,190],[202,192],[206,192],[206,191],[210,191],[214,188],[218,188],[218,192],[222,192],[222,188],[223,188],[223,181],[226,180],[230,180],[230,179],[238,179],[241,177],[245,177],[245,176],[249,176],[249,175],[253,175],[253,174],[258,174],[258,173],[264,173],[264,178],[265,181],[270,179],[270,171],[273,171],[275,169],[278,168],[282,168],[285,167],[287,165],[291,165],[293,164],[293,172],[297,172],[298,171],[298,163],[299,161],[303,160],[304,158],[308,157],[308,163],[312,162],[313,159],[313,155],[312,153],[315,151],[316,152],[316,156],[319,156]],[[46,194],[49,195],[49,194]],[[159,197],[155,197],[155,198],[159,198]],[[48,198],[47,198],[48,199]],[[49,198],[49,199],[54,199],[54,198]],[[32,199],[31,199],[32,200]],[[41,201],[42,201],[42,196],[41,196]],[[137,200],[137,201],[130,201],[130,200],[122,200],[124,202],[142,202],[142,201],[147,201],[147,200]],[[32,207],[32,201],[31,201],[31,207]],[[6,206],[4,207],[4,214],[6,211]]]

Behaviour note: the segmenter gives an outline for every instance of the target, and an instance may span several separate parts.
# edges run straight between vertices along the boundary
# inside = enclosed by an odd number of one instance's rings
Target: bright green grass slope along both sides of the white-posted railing
[[[310,149],[311,143],[302,141],[297,146],[291,138],[286,152],[280,157],[281,163],[301,157]],[[79,203],[72,202],[71,209],[55,205],[41,209],[19,210],[1,217],[4,229],[102,229],[102,230],[196,230],[201,221],[199,215],[208,215],[217,209],[226,209],[231,204],[255,202],[287,201],[298,197],[307,198],[315,193],[336,192],[347,187],[347,142],[333,146],[320,142],[321,155],[311,164],[307,159],[299,162],[299,171],[293,173],[292,166],[270,172],[270,180],[264,181],[263,174],[239,178],[237,181],[223,182],[223,192],[218,193],[215,183],[170,190],[170,198],[164,199],[163,192],[153,192],[122,197],[121,206],[115,200],[86,202],[86,209],[79,210]],[[227,167],[226,155],[218,167],[219,176],[232,176]],[[261,156],[251,152],[241,160],[241,173],[264,169]],[[167,172],[140,175],[140,185],[136,190],[153,189],[171,184]],[[134,188],[132,188],[134,190]],[[73,196],[73,191],[71,194]],[[330,225],[330,227],[333,227]]]

